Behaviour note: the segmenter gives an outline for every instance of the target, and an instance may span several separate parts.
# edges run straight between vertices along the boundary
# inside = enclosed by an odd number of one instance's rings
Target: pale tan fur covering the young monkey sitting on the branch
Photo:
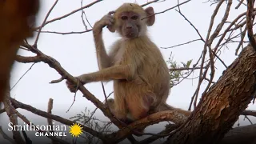
[[[126,13],[128,12],[130,13]],[[114,81],[114,101],[109,99],[110,110],[116,118],[132,121],[145,117],[150,111],[178,110],[166,104],[170,90],[170,74],[166,62],[158,47],[146,35],[147,26],[154,24],[154,16],[140,20],[154,14],[152,7],[143,10],[136,4],[124,4],[115,11],[114,17],[107,14],[95,23],[93,28],[94,42],[97,51],[99,71],[82,74],[79,78],[82,84],[88,82]],[[122,21],[118,14],[138,14],[139,19]],[[130,23],[129,23],[130,22]],[[138,33],[136,38],[126,38],[122,31],[126,24],[140,26],[134,28]],[[115,30],[122,36],[114,42],[110,53],[106,54],[102,40],[102,28],[107,26],[111,32]],[[126,28],[126,27],[125,27]],[[127,33],[127,32],[126,32]],[[66,82],[70,91],[75,90]],[[188,112],[189,113],[189,112]]]

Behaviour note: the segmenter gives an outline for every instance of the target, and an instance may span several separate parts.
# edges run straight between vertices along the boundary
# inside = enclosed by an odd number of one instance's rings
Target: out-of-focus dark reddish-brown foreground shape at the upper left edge
[[[39,0],[0,1],[0,106],[6,98],[18,48],[25,38],[34,36],[32,26],[39,10]]]

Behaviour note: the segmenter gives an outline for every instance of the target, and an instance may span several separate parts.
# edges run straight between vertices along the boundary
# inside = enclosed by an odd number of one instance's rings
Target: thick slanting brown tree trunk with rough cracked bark
[[[255,72],[256,54],[249,45],[222,73],[218,82],[202,94],[189,120],[171,134],[166,143],[219,143],[255,97]]]

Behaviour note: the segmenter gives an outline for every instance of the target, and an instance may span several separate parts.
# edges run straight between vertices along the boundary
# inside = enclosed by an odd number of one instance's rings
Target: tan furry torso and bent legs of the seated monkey
[[[130,81],[114,80],[115,111],[120,114],[118,117],[123,118],[126,115],[124,110],[128,107],[134,119],[138,119],[140,110],[148,108],[142,105],[144,97],[153,99],[153,107],[166,102],[170,90],[170,74],[158,47],[148,37],[122,41],[119,50],[122,49],[122,58],[113,64],[128,66],[126,72]]]

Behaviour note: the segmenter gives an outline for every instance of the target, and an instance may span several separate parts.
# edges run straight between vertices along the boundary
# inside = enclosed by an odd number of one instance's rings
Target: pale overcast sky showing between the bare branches
[[[90,2],[86,0],[83,5],[89,4]],[[94,6],[85,9],[86,16],[91,24],[102,18],[104,14],[107,14],[110,10],[115,10],[118,6],[122,5],[123,2],[134,2],[125,0],[105,0],[98,2]],[[136,1],[138,4],[144,4],[146,0]],[[184,1],[181,1],[184,2]],[[193,22],[199,32],[202,34],[203,38],[206,38],[208,26],[210,24],[210,17],[216,5],[210,6],[210,2],[202,0],[196,0],[186,3],[181,6],[182,14],[186,15],[186,18]],[[41,2],[41,10],[38,14],[38,24],[41,25],[46,13],[53,5],[53,0],[44,0]],[[177,1],[166,0],[165,2],[154,3],[150,6],[154,7],[155,12],[160,12],[166,10],[172,6],[175,6]],[[232,10],[230,13],[229,21],[246,11],[246,6],[241,6],[239,10],[235,10],[234,6],[237,6],[238,2],[234,1]],[[48,20],[53,18],[58,18],[64,14],[70,13],[72,10],[76,10],[81,6],[80,0],[74,1],[59,1],[57,6],[51,12]],[[148,7],[148,6],[146,6]],[[222,5],[221,10],[217,15],[215,26],[221,21],[224,10],[226,9],[226,4]],[[90,26],[87,24],[90,28]],[[46,25],[42,30],[47,31],[57,31],[57,32],[71,32],[71,31],[82,31],[85,30],[85,26],[82,24],[81,12],[72,14],[68,18],[63,18],[60,21],[52,22]],[[156,15],[156,22],[154,26],[149,27],[149,36],[153,42],[158,47],[174,46],[182,42],[188,42],[198,38],[196,31],[190,26],[188,22],[178,12],[175,10],[166,11],[163,14]],[[106,45],[106,49],[118,38],[118,34],[110,33],[108,30],[103,30],[103,38]],[[30,44],[33,44],[34,40],[30,40]],[[160,49],[166,61],[170,57],[170,54],[174,56],[174,60],[177,62],[186,62],[193,59],[192,64],[196,62],[202,53],[204,43],[198,41],[190,43],[186,46],[179,46],[173,49]],[[228,48],[222,50],[221,58],[229,66],[231,62],[234,61],[234,50],[236,49],[236,44],[229,45]],[[42,50],[44,54],[47,54],[60,62],[61,66],[67,70],[70,74],[78,76],[80,74],[90,73],[98,70],[98,64],[96,60],[95,47],[93,36],[91,32],[84,34],[41,34],[38,41],[38,49]],[[29,56],[30,54],[24,50],[19,50],[18,54]],[[11,86],[30,68],[32,63],[21,64],[15,63],[13,73],[11,74]],[[192,65],[191,65],[192,66]],[[216,82],[225,67],[222,66],[220,62],[216,64],[217,70],[215,72],[214,81]],[[191,75],[193,77],[198,76],[198,71],[195,71]],[[50,81],[60,78],[60,75],[56,70],[50,68],[47,64],[40,62],[33,66],[33,68],[26,74],[24,78],[18,85],[11,90],[11,96],[16,98],[18,101],[34,106],[39,110],[47,110],[47,103],[49,98],[54,99],[54,109],[53,114],[58,114],[63,118],[70,118],[75,114],[80,113],[86,107],[89,110],[94,110],[95,106],[93,103],[88,101],[86,98],[82,97],[82,93],[78,92],[74,105],[71,107],[70,111],[66,113],[70,105],[74,100],[74,93],[66,88],[65,82],[59,82],[56,84],[49,84]],[[197,87],[198,79],[195,80],[185,80],[178,86],[174,86],[171,90],[170,97],[167,103],[180,107],[182,109],[188,109],[190,104],[190,98],[194,94],[194,90]],[[112,82],[105,84],[106,94],[112,91]],[[207,84],[204,82],[204,84]],[[92,94],[97,96],[101,101],[104,100],[104,95],[102,92],[102,86],[100,82],[94,82],[86,85],[86,88],[90,90]],[[201,93],[204,86],[201,88]],[[201,94],[199,94],[201,96]],[[113,96],[113,95],[112,95]],[[250,104],[248,107],[250,110],[256,110],[256,106]],[[19,110],[19,109],[18,109]],[[22,114],[26,116],[31,122],[35,124],[46,124],[46,119],[41,118],[38,121],[38,116],[26,112],[26,110],[19,110]],[[6,114],[2,114],[6,115]],[[97,111],[96,116],[98,118],[104,118],[100,110]],[[6,131],[7,134],[11,135],[11,132],[7,130],[7,124],[9,120],[5,116],[5,120],[0,122],[2,129]],[[241,126],[248,125],[249,122],[242,122]],[[0,136],[0,139],[2,137]]]

